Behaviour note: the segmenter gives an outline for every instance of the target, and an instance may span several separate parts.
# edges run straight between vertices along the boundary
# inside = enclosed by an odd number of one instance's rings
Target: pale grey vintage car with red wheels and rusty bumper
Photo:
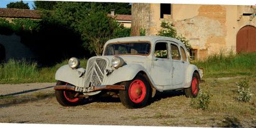
[[[186,48],[177,39],[137,36],[111,39],[102,56],[79,66],[72,57],[56,72],[56,99],[62,106],[76,106],[83,98],[102,94],[119,97],[127,108],[147,106],[155,92],[184,90],[197,97],[202,73],[189,63]]]

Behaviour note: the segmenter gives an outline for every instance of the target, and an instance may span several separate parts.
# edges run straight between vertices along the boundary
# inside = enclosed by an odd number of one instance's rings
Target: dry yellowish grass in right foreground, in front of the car
[[[256,123],[256,76],[249,77],[249,85],[252,93],[252,101],[238,102],[237,83],[245,78],[218,80],[212,86],[210,79],[200,84],[200,89],[209,91],[209,109],[202,110],[190,106],[190,98],[184,95],[171,95],[165,93],[161,99],[147,106],[154,111],[150,117],[159,119],[163,126],[190,126],[190,127],[255,127]],[[160,94],[160,93],[159,93]],[[165,118],[166,117],[166,118]],[[137,117],[144,119],[144,117]],[[150,118],[151,119],[151,118]],[[185,123],[184,123],[185,121]]]

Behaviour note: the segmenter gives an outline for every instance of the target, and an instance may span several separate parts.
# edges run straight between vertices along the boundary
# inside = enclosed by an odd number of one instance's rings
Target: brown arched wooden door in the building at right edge
[[[237,32],[237,52],[256,52],[256,27],[245,26]]]

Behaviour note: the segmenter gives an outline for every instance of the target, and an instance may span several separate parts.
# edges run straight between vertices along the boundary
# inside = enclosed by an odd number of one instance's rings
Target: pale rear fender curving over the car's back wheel
[[[193,64],[189,64],[189,66],[187,67],[186,80],[185,80],[184,88],[190,87],[191,81],[192,81],[192,76],[193,76],[193,73],[195,71],[199,72],[199,69],[197,68],[197,66],[195,66]],[[200,74],[199,74],[199,77],[201,78]]]

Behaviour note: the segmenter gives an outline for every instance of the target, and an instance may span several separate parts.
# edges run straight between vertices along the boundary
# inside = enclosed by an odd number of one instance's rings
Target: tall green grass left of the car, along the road
[[[8,62],[0,65],[0,84],[25,82],[55,82],[55,73],[59,67],[67,64],[64,60],[52,67],[38,67],[36,62],[26,60]],[[86,68],[87,59],[81,59],[81,67]]]

